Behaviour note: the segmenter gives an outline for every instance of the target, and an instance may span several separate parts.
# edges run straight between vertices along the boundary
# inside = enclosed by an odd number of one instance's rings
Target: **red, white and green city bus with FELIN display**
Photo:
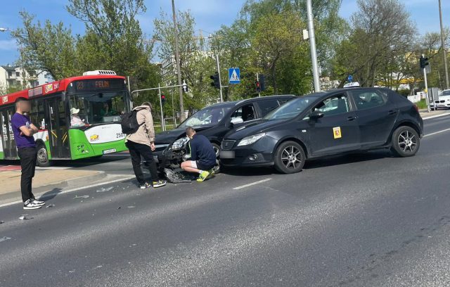
[[[120,126],[121,113],[131,110],[125,77],[108,70],[85,72],[32,89],[0,96],[0,160],[18,159],[11,117],[15,99],[29,98],[30,118],[39,132],[37,162],[41,167],[52,160],[78,160],[126,151]],[[82,125],[71,127],[70,110],[79,110]]]

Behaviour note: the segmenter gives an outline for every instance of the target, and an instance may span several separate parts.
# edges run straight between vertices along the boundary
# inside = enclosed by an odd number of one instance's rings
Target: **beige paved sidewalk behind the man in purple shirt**
[[[20,196],[20,166],[0,166],[0,203],[18,200]],[[41,170],[37,169],[33,179],[33,193],[58,193],[71,186],[89,184],[102,180],[105,172],[95,170]]]

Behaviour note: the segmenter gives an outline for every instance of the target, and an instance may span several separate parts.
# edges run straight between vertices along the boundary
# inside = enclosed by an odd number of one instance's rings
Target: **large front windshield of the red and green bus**
[[[126,111],[126,93],[127,91],[101,91],[70,95],[71,122],[84,122],[88,125],[120,122],[120,115]],[[74,112],[77,115],[72,115]],[[78,121],[73,121],[74,117],[78,117]]]

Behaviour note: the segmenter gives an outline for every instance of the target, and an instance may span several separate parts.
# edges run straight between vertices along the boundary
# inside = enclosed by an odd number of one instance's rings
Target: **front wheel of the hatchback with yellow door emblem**
[[[306,160],[302,146],[295,141],[283,142],[276,148],[274,157],[275,169],[283,174],[300,172]]]

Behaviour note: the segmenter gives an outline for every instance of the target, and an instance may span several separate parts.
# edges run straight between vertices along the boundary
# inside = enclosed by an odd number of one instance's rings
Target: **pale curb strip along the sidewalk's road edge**
[[[87,175],[85,177],[75,177],[75,179],[67,179],[60,181],[56,184],[49,184],[45,186],[39,186],[36,188],[33,188],[34,196],[39,198],[40,196],[51,196],[54,194],[58,194],[61,191],[63,191],[65,188],[68,187],[76,187],[77,182],[82,179],[82,183],[86,184],[89,181],[98,181],[101,179],[104,179],[106,177],[106,173],[102,171],[95,171],[96,174]],[[0,205],[4,205],[10,202],[15,202],[17,200],[20,200],[20,189],[18,191],[11,191],[8,193],[4,193],[0,195]]]

